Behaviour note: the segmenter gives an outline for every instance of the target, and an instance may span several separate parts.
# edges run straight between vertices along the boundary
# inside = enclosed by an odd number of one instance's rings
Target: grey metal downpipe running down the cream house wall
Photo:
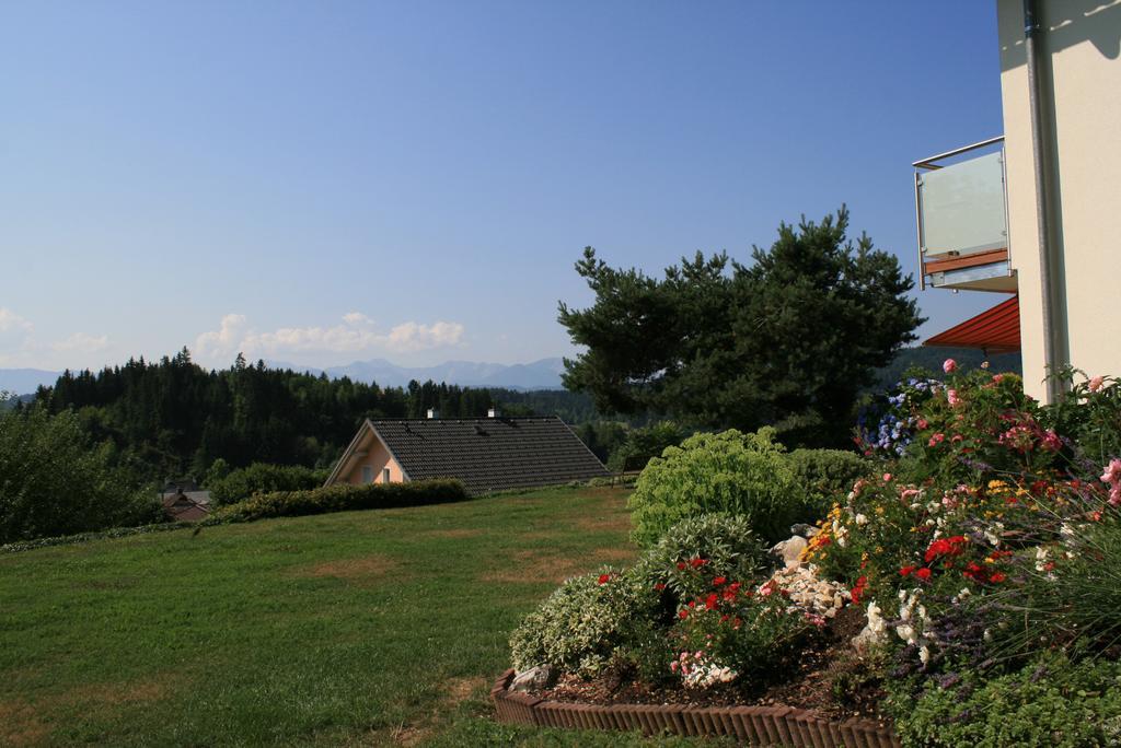
[[[1058,371],[1060,346],[1058,339],[1062,330],[1055,320],[1055,278],[1054,247],[1050,241],[1050,190],[1047,179],[1050,174],[1050,159],[1044,130],[1044,114],[1040,99],[1040,50],[1036,46],[1039,34],[1039,21],[1036,13],[1036,0],[1023,0],[1023,49],[1028,68],[1028,106],[1031,110],[1031,153],[1036,181],[1036,231],[1039,242],[1039,287],[1043,296],[1044,312],[1044,366],[1046,367],[1047,400],[1055,402],[1063,392],[1062,383],[1051,375]]]

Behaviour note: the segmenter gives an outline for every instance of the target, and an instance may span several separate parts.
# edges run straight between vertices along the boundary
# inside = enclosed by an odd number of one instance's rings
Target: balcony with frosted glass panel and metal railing
[[[912,165],[921,288],[1016,291],[1003,141],[991,138]]]

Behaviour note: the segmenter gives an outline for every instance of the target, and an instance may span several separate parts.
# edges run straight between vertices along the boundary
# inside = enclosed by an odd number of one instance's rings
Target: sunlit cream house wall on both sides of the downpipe
[[[1011,263],[1019,277],[1023,381],[1044,400],[1031,115],[1022,0],[998,0]],[[1044,119],[1067,350],[1090,375],[1121,376],[1121,0],[1039,0]]]

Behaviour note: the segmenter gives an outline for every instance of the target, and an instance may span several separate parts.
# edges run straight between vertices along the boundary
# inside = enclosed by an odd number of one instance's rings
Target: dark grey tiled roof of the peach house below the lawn
[[[610,475],[559,418],[374,421],[410,480],[457,478],[470,494]]]

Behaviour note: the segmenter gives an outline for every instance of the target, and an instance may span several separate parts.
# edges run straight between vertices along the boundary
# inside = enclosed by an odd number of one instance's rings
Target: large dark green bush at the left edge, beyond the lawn
[[[73,412],[0,415],[0,543],[161,518],[155,488],[114,467]]]

